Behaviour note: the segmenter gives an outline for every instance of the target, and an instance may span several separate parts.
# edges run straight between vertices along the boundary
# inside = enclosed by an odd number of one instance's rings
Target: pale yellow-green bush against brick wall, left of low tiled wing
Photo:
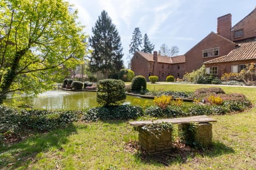
[[[205,65],[203,65],[200,69],[193,71],[191,73],[186,73],[183,76],[183,81],[189,81],[197,84],[205,83],[206,72]]]

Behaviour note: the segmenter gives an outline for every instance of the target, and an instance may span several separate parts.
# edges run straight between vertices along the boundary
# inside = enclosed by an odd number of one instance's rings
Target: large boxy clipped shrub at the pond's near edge
[[[122,80],[100,80],[97,87],[97,102],[101,106],[120,105],[126,99],[125,85]]]

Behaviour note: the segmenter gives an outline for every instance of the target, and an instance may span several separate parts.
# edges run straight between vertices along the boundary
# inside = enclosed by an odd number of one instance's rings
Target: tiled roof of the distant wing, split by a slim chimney
[[[153,54],[142,53],[142,52],[137,52],[137,53],[139,53],[142,57],[146,58],[147,61],[154,62]],[[167,64],[185,63],[185,55],[178,55],[174,57],[157,55],[157,61],[158,63],[167,63]]]

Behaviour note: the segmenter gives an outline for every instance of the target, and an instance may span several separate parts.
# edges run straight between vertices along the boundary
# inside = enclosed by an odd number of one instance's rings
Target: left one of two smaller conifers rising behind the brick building
[[[136,27],[132,33],[131,44],[129,45],[129,53],[133,55],[135,52],[140,51],[142,44],[142,35],[139,27]]]

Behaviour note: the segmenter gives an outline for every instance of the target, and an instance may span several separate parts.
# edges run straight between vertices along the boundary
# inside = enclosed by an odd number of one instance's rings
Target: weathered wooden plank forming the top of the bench
[[[214,118],[208,117],[206,115],[202,116],[191,116],[191,117],[181,117],[181,118],[167,118],[162,120],[155,120],[155,121],[137,121],[137,122],[127,122],[132,126],[143,126],[146,124],[153,124],[153,123],[173,123],[173,124],[180,124],[180,123],[207,123],[207,122],[217,122]]]

